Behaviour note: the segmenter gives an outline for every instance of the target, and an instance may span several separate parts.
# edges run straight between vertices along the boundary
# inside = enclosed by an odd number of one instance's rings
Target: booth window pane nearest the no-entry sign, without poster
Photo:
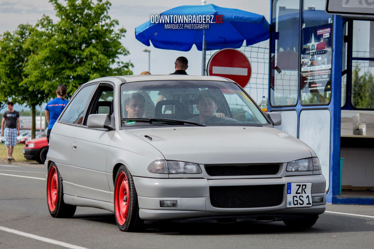
[[[294,106],[298,95],[300,1],[274,0],[272,9],[270,104]]]

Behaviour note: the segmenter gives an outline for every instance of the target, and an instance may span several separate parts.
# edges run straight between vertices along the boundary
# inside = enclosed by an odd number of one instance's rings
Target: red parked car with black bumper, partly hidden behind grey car
[[[48,141],[46,137],[34,138],[27,141],[22,149],[24,157],[29,160],[36,160],[40,164],[44,164],[47,158]]]

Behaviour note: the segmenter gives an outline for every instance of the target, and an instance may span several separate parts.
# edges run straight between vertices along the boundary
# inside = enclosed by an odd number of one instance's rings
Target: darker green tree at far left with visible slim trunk
[[[13,32],[5,32],[0,39],[0,101],[9,98],[13,102],[26,104],[33,117],[31,137],[35,137],[35,107],[44,102],[45,90],[24,83],[28,78],[25,65],[35,49],[28,46],[28,40],[36,31],[30,24],[21,24]],[[38,43],[40,43],[38,41]]]

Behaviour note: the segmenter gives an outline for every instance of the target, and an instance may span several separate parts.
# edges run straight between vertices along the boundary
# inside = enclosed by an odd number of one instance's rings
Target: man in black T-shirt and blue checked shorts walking
[[[4,144],[8,155],[7,161],[11,163],[15,161],[12,155],[17,143],[17,136],[19,136],[19,113],[14,111],[13,102],[8,102],[7,105],[8,111],[4,112],[3,121],[1,122],[1,136],[5,135]]]

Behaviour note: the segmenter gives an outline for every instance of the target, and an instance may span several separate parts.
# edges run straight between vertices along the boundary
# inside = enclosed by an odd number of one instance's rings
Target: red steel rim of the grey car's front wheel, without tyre
[[[129,183],[125,172],[119,172],[114,192],[116,218],[120,225],[125,224],[129,212]]]

